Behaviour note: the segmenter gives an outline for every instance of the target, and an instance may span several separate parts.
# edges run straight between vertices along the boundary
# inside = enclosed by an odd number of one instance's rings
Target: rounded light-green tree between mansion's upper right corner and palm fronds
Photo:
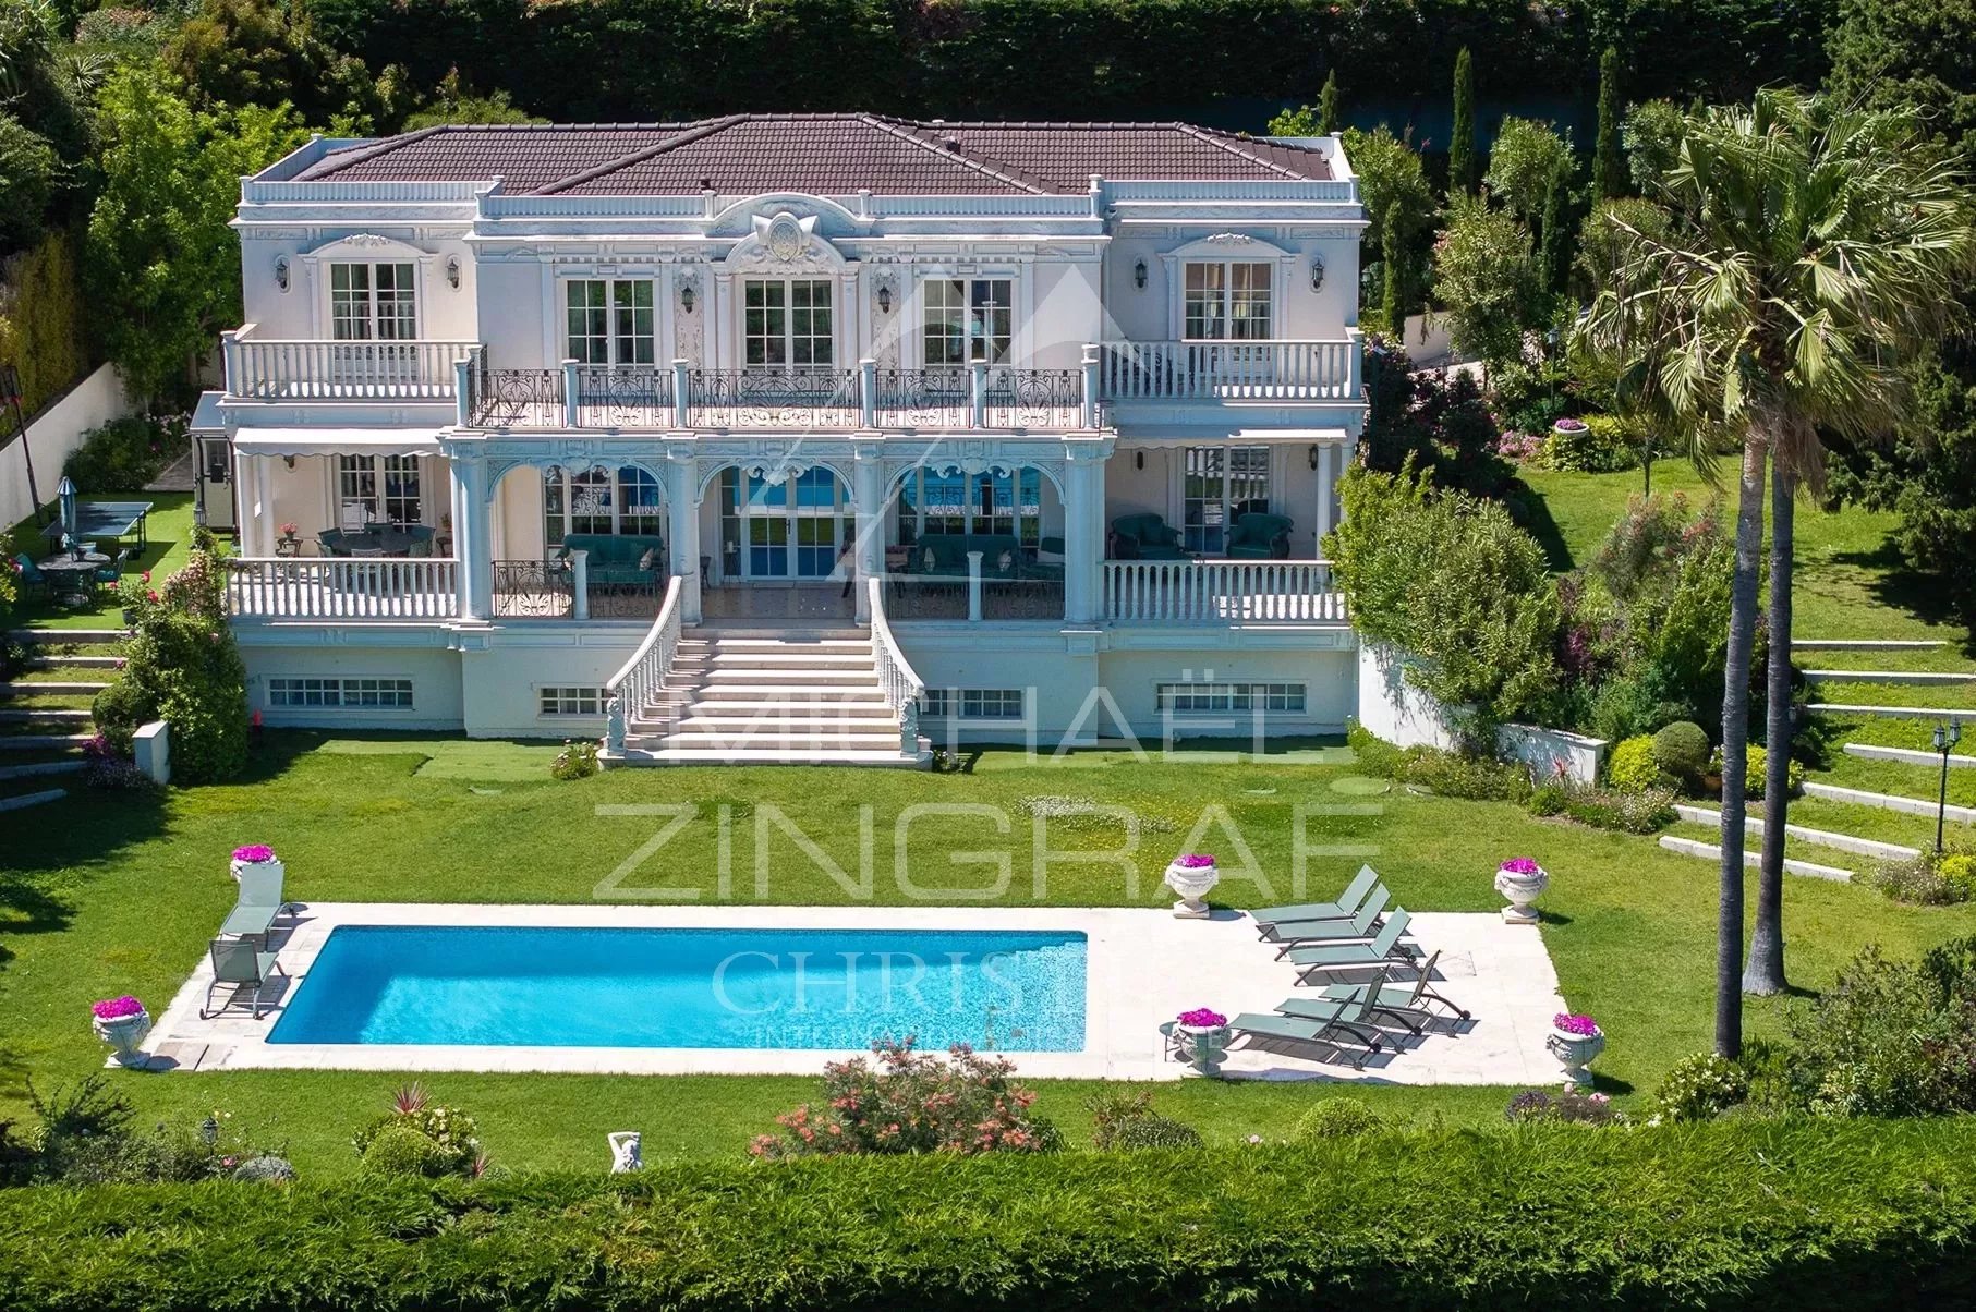
[[[1492,368],[1522,358],[1523,334],[1543,322],[1529,229],[1484,200],[1456,196],[1435,241],[1435,292],[1456,350]]]

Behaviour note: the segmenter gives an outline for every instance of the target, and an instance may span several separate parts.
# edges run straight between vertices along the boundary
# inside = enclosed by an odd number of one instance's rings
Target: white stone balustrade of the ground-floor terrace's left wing
[[[451,559],[227,561],[227,611],[279,620],[445,620],[458,615]]]

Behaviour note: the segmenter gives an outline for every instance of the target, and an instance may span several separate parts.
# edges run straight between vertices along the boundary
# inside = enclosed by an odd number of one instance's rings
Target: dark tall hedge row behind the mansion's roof
[[[1608,43],[1630,99],[1810,85],[1832,2],[312,0],[308,12],[373,69],[409,63],[417,85],[433,85],[456,65],[468,85],[557,121],[737,109],[1199,117],[1223,97],[1314,101],[1332,69],[1348,117],[1354,99],[1419,97],[1415,111],[1441,121],[1464,45],[1484,97],[1589,99]],[[1261,128],[1259,113],[1249,126]]]

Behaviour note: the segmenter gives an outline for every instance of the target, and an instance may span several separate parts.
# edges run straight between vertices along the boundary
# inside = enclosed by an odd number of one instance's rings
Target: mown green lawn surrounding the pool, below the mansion
[[[241,784],[170,792],[158,800],[81,794],[34,812],[0,814],[0,1116],[22,1085],[73,1079],[101,1061],[87,1004],[136,992],[162,1006],[190,974],[233,897],[225,854],[271,842],[290,887],[320,901],[634,901],[632,889],[700,887],[700,901],[901,905],[1158,905],[1158,871],[1186,848],[1223,856],[1229,905],[1298,897],[1292,812],[1302,806],[1308,858],[1302,891],[1332,893],[1361,860],[1399,899],[1423,911],[1492,911],[1490,875],[1506,856],[1535,856],[1555,877],[1543,937],[1573,1008],[1612,1035],[1599,1063],[1606,1087],[1650,1093],[1668,1065],[1709,1035],[1715,871],[1660,852],[1648,838],[1533,820],[1516,806],[1379,792],[1340,751],[1213,765],[1215,757],[1126,763],[1116,753],[1065,765],[990,753],[972,775],[850,771],[618,771],[547,780],[539,745],[453,739],[332,739],[271,733]],[[1138,816],[1134,879],[1114,865],[1031,860],[1035,798],[1079,798]],[[970,802],[992,816],[923,816],[893,865],[901,812],[919,802]],[[666,816],[599,816],[599,804],[690,806],[692,820],[617,891],[599,889]],[[869,893],[860,887],[858,806],[873,812]],[[719,881],[717,832],[733,834],[729,883]],[[1043,806],[1047,808],[1047,806]],[[1219,810],[1215,810],[1219,808]],[[777,824],[814,840],[842,875],[820,869]],[[1207,828],[1195,826],[1207,816]],[[1004,830],[1006,820],[1006,830]],[[763,852],[759,834],[767,832]],[[1126,846],[1111,820],[1055,820],[1049,850]],[[952,865],[950,852],[1008,852],[1008,875]],[[757,885],[757,877],[765,885]],[[858,893],[848,891],[846,883]],[[1865,889],[1792,879],[1786,935],[1804,988],[1832,982],[1857,948],[1893,954],[1976,933],[1976,907],[1913,909]],[[1774,1029],[1784,1004],[1753,1008],[1753,1029]],[[227,1108],[241,1124],[287,1140],[312,1172],[354,1164],[348,1134],[389,1075],[255,1073],[115,1075],[150,1114],[204,1116]],[[441,1097],[482,1118],[510,1166],[601,1166],[603,1134],[636,1126],[652,1156],[729,1156],[775,1112],[814,1097],[806,1079],[632,1079],[435,1075]],[[1075,1138],[1091,1085],[1043,1089],[1043,1110]],[[1156,1103],[1217,1138],[1282,1134],[1314,1099],[1308,1085],[1160,1087]],[[1397,1110],[1437,1110],[1484,1122],[1508,1089],[1369,1089]]]

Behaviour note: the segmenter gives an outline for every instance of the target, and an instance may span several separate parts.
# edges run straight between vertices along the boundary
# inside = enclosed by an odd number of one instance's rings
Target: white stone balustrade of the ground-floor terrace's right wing
[[[1105,561],[1114,624],[1342,624],[1330,561]]]

